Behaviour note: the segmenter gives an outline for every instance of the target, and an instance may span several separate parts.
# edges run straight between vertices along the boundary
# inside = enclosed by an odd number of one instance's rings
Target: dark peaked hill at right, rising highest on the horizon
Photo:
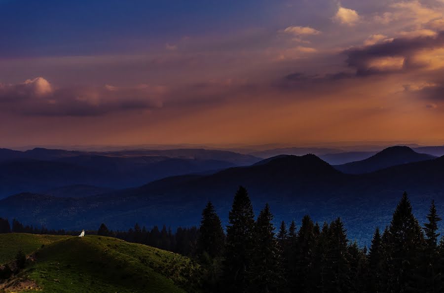
[[[372,155],[370,158],[334,166],[337,170],[348,174],[370,173],[388,167],[412,162],[431,160],[435,156],[417,153],[410,147],[388,147]]]

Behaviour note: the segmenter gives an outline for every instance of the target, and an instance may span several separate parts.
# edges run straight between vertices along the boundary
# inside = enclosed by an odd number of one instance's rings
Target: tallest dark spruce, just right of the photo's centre
[[[234,196],[226,228],[224,261],[226,292],[244,292],[247,289],[247,272],[254,244],[254,217],[247,189],[240,186]]]

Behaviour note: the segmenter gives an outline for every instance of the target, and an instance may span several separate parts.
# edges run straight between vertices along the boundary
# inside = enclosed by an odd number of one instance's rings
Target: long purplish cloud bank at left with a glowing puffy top
[[[2,111],[46,116],[94,116],[121,110],[147,110],[162,107],[165,88],[135,87],[54,88],[45,78],[18,84],[0,84]]]

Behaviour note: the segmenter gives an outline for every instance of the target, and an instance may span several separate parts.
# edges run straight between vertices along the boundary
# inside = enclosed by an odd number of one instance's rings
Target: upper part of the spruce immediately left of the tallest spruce
[[[221,220],[216,214],[213,204],[208,202],[202,211],[197,239],[198,253],[207,253],[212,258],[221,256],[224,237]]]

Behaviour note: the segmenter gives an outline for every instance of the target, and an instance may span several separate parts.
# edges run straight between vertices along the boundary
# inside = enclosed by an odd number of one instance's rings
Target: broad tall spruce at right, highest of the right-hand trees
[[[413,216],[407,193],[396,207],[389,227],[389,289],[394,292],[421,291],[420,259],[424,235]]]

